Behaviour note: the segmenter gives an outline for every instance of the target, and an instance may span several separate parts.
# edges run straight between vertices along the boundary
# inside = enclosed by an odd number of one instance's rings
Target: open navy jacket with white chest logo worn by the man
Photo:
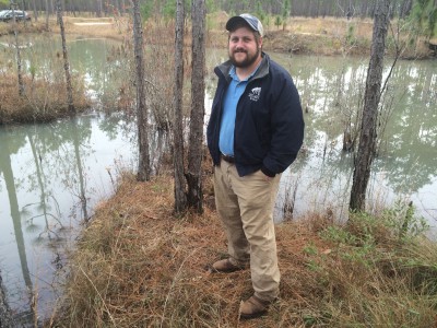
[[[262,56],[237,105],[234,157],[239,176],[258,169],[268,176],[284,172],[296,159],[304,140],[305,125],[296,86],[285,69],[267,54]],[[220,165],[220,124],[231,67],[226,61],[214,69],[218,83],[206,129],[214,165]]]

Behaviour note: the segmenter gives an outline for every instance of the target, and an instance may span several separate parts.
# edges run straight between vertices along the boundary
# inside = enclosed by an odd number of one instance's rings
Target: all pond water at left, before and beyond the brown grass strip
[[[27,74],[50,80],[59,73],[57,37],[21,42]],[[119,43],[72,37],[68,45],[72,71],[83,77],[88,95],[99,107],[115,107],[111,80],[122,71],[110,57]],[[0,48],[0,74],[7,75],[14,48],[3,37]],[[134,122],[121,114],[0,126],[0,274],[17,323],[33,325],[52,314],[64,250],[73,248],[96,203],[114,192],[119,172],[134,169],[135,159]]]

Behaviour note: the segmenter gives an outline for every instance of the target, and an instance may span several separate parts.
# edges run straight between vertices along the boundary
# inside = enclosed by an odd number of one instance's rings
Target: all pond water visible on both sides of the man
[[[0,40],[1,75],[14,66],[13,48]],[[119,61],[108,59],[118,43],[73,38],[69,47],[71,67],[85,80],[90,95],[115,102],[119,80],[114,81],[123,70]],[[24,68],[36,74],[49,72],[48,58],[57,58],[59,49],[58,40],[27,40],[22,49]],[[343,134],[356,129],[368,59],[272,57],[292,73],[308,112],[304,149],[283,175],[275,218],[299,219],[329,209],[342,220],[353,173],[353,153],[343,151]],[[208,61],[224,58],[224,51],[214,50]],[[208,112],[214,78],[209,77],[206,84]],[[411,200],[416,213],[435,226],[437,61],[400,61],[388,90],[368,208]],[[114,192],[120,169],[135,169],[135,138],[133,121],[97,112],[47,125],[0,127],[0,270],[17,316],[32,323],[35,313],[51,314],[64,249],[74,245],[78,227],[95,204]],[[161,147],[158,140],[152,139],[152,152]],[[283,212],[284,203],[293,203],[293,213]]]

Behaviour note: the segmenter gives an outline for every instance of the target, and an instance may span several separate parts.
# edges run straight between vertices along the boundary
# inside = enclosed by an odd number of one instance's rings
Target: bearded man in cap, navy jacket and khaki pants
[[[273,207],[281,173],[303,143],[304,120],[292,78],[262,52],[261,22],[241,14],[229,19],[226,30],[229,60],[214,70],[218,82],[206,136],[229,257],[214,262],[212,271],[250,263],[255,293],[239,314],[253,318],[279,296]]]

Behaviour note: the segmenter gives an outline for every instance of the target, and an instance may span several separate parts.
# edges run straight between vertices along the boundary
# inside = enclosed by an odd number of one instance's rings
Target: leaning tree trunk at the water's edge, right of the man
[[[366,189],[370,177],[370,166],[375,156],[378,106],[382,84],[383,52],[386,49],[386,36],[390,20],[389,9],[390,0],[377,0],[370,62],[364,95],[359,144],[355,159],[355,169],[351,190],[350,209],[353,211],[364,211],[365,209]]]

